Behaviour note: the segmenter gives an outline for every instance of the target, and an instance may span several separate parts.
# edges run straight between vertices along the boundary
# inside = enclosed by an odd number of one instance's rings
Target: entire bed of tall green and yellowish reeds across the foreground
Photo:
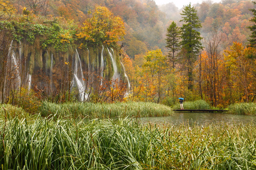
[[[254,125],[1,122],[2,169],[255,169]]]

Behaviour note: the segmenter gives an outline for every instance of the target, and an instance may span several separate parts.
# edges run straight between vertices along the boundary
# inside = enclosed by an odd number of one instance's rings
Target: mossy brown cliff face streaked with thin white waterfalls
[[[36,88],[47,95],[75,92],[84,101],[103,80],[128,81],[118,49],[103,45],[86,49],[69,46],[67,52],[56,52],[52,46],[43,49],[39,39],[32,45],[11,41],[6,65],[1,65],[1,70],[5,70],[1,79],[6,80],[1,83],[0,100],[14,89]]]

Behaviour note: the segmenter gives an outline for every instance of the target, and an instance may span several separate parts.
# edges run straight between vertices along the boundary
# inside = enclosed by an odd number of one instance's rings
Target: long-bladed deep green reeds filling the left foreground
[[[155,166],[158,142],[133,121],[8,122],[3,169],[142,169]],[[153,135],[153,136],[152,136]]]

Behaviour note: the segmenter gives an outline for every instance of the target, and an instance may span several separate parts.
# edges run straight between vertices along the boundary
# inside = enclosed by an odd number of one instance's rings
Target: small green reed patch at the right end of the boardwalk
[[[256,114],[256,103],[236,103],[229,105],[228,113],[254,115]]]

